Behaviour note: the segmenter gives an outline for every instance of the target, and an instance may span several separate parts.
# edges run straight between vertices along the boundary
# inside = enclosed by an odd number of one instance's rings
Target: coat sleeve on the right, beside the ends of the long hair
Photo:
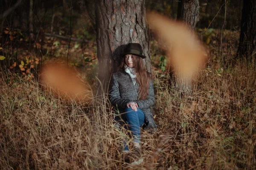
[[[145,109],[145,108],[150,108],[152,105],[154,105],[154,85],[153,85],[153,81],[150,80],[149,82],[149,89],[148,89],[148,98],[144,99],[144,100],[135,100],[134,102],[136,102],[139,105],[140,109]]]

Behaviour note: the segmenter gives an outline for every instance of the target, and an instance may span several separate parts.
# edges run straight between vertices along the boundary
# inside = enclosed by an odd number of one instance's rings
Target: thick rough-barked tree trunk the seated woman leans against
[[[99,80],[107,87],[111,73],[120,63],[120,54],[129,42],[138,42],[150,72],[148,29],[144,0],[96,0],[97,57]],[[107,88],[105,88],[107,89]]]

